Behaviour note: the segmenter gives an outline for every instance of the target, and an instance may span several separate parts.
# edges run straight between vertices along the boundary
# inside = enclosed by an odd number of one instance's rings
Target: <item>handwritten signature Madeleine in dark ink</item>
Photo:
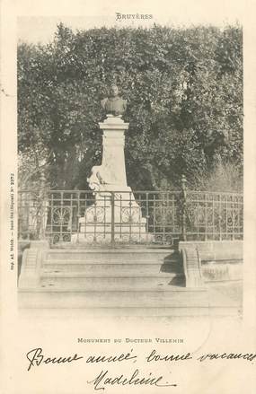
[[[139,376],[139,371],[135,370],[130,377],[126,377],[123,374],[119,376],[110,377],[109,371],[102,371],[93,381],[87,381],[88,384],[93,384],[94,390],[105,390],[106,385],[122,385],[122,386],[156,386],[156,387],[176,387],[177,384],[169,383],[169,381],[163,381],[163,376],[155,377],[151,372],[147,377]]]

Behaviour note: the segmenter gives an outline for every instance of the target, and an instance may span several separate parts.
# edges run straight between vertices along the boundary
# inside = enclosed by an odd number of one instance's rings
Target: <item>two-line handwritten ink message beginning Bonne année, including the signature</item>
[[[138,357],[143,357],[146,364],[154,365],[155,363],[188,363],[190,360],[195,360],[198,363],[204,363],[213,360],[243,360],[252,363],[256,358],[256,353],[208,353],[202,355],[186,354],[160,354],[156,349],[152,349],[149,353],[144,355],[137,355],[134,349],[131,348],[127,353],[119,353],[113,355],[45,355],[41,347],[31,349],[26,354],[28,360],[28,371],[35,367],[40,367],[41,364],[49,364],[51,366],[63,363],[86,363],[104,365],[96,373],[92,380],[87,381],[87,384],[93,385],[94,390],[105,390],[110,386],[154,386],[157,388],[163,387],[177,387],[178,383],[170,381],[168,376],[163,374],[155,374],[149,372],[147,375],[140,372],[138,368],[131,365],[130,372],[111,373],[107,367],[110,364],[118,363],[137,363]]]

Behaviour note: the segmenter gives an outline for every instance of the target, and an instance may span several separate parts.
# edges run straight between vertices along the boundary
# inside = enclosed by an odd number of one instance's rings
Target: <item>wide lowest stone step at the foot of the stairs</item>
[[[170,291],[152,289],[134,291],[107,291],[106,289],[81,291],[76,289],[20,290],[22,308],[207,308],[204,290],[186,291],[175,288]]]

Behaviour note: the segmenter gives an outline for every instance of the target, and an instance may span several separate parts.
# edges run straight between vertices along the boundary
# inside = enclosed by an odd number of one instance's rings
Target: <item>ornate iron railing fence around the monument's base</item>
[[[243,195],[190,191],[22,190],[19,238],[170,244],[243,239]]]

